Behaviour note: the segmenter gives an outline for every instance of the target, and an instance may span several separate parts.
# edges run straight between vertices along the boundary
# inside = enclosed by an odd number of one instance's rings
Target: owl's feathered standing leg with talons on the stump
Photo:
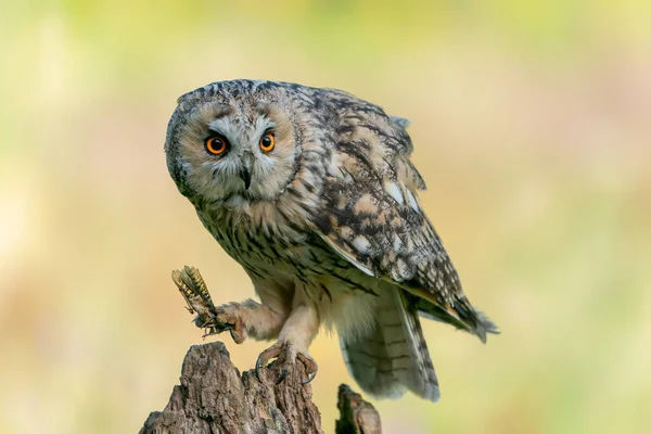
[[[260,367],[266,367],[269,360],[276,358],[281,363],[281,374],[276,384],[282,382],[299,361],[305,367],[307,384],[317,374],[318,366],[309,355],[308,347],[319,330],[319,315],[311,304],[295,306],[278,336],[278,342],[265,349],[255,363],[255,372],[259,380]]]

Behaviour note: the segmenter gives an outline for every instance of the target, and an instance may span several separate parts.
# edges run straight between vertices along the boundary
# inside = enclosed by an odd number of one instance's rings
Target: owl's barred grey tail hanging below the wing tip
[[[398,398],[409,390],[432,401],[441,397],[418,311],[403,290],[382,292],[372,333],[340,341],[348,372],[365,392]]]

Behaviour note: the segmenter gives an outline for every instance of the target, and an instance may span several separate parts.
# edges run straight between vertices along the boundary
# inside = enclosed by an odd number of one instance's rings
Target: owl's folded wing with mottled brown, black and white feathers
[[[409,159],[406,123],[360,100],[340,104],[339,116],[316,231],[365,273],[407,290],[422,314],[484,341],[497,330],[464,296],[419,203],[417,191],[425,183]]]

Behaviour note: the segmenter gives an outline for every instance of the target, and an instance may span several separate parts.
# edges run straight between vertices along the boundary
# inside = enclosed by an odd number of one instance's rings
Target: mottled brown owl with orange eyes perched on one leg
[[[336,330],[344,361],[375,397],[441,394],[420,317],[482,342],[496,326],[463,294],[418,192],[406,119],[350,93],[218,81],[178,99],[167,167],[204,227],[251,278],[259,303],[217,308],[233,340],[276,341],[256,370],[303,363]]]

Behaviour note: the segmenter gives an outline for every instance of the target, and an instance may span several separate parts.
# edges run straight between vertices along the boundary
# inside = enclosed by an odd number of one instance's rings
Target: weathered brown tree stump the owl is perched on
[[[221,342],[194,345],[183,360],[180,385],[163,411],[152,412],[140,434],[323,433],[311,386],[301,384],[302,363],[276,384],[280,363],[240,374]],[[380,416],[342,384],[337,434],[380,434]]]

